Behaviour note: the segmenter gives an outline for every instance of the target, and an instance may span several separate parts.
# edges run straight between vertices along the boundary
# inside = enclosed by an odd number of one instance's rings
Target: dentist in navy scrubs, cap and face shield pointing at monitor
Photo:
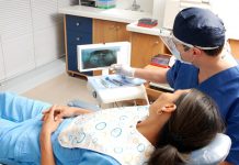
[[[168,82],[175,90],[196,88],[218,105],[232,146],[225,164],[239,164],[239,65],[227,51],[223,21],[209,10],[187,8],[178,13],[172,30],[171,68],[143,69],[112,65],[116,73],[153,82]]]

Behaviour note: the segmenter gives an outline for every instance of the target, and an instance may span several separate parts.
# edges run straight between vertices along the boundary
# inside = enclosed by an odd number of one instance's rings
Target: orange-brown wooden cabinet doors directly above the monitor
[[[114,21],[93,20],[93,43],[109,43],[129,41],[130,33],[126,23]]]

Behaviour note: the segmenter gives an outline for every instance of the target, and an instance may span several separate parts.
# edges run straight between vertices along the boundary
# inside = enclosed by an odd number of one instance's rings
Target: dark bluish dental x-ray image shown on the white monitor
[[[120,47],[82,50],[82,68],[107,67],[117,63]]]

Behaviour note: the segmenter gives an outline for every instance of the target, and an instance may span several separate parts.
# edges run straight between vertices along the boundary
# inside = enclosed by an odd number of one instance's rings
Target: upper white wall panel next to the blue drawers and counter
[[[57,14],[56,0],[31,0],[34,31],[54,26],[60,16]]]

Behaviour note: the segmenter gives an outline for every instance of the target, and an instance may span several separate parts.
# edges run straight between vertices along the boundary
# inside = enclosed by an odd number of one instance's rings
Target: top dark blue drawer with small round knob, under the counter
[[[66,15],[67,30],[92,33],[92,19],[73,15]]]

